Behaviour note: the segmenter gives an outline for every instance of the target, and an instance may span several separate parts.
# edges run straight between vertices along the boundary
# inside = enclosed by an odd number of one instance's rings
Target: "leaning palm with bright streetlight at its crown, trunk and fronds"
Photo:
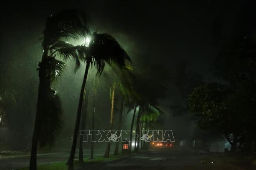
[[[83,91],[90,65],[93,64],[97,69],[97,74],[100,75],[104,70],[105,63],[108,63],[110,67],[117,66],[118,68],[122,69],[125,66],[125,60],[131,61],[130,57],[124,51],[122,46],[119,45],[119,43],[115,40],[115,38],[113,38],[113,36],[107,33],[99,34],[97,32],[94,32],[93,35],[91,35],[91,43],[87,46],[80,46],[79,54],[81,56],[86,56],[86,68],[80,91],[72,149],[70,152],[69,160],[67,161],[67,165],[69,165],[69,168],[73,168],[75,148],[77,143],[77,136],[81,117],[82,101],[84,96]],[[112,89],[114,87],[115,86],[113,86]],[[112,91],[112,96],[114,96],[114,90]]]

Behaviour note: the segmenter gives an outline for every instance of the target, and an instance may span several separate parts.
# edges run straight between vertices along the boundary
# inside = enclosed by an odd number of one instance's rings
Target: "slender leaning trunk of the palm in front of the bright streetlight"
[[[73,165],[74,165],[74,157],[75,157],[75,148],[77,145],[77,135],[78,135],[78,131],[79,131],[82,103],[83,103],[83,98],[84,98],[84,87],[85,87],[86,79],[88,76],[89,66],[90,66],[90,64],[87,63],[86,68],[85,68],[85,73],[84,73],[84,80],[83,80],[81,91],[80,91],[79,104],[78,104],[78,109],[77,109],[77,118],[75,120],[75,130],[74,130],[74,138],[73,138],[72,148],[71,148],[71,152],[69,155],[69,160],[66,163],[69,166],[70,170],[74,168]]]

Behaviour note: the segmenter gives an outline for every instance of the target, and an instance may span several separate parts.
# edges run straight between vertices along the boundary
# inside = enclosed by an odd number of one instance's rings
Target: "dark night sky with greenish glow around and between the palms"
[[[183,106],[186,95],[182,89],[190,87],[191,75],[201,81],[214,79],[211,68],[219,52],[218,38],[225,40],[232,36],[244,7],[253,9],[252,4],[244,0],[1,2],[0,91],[1,95],[14,95],[22,108],[7,116],[10,129],[2,133],[17,133],[23,145],[30,140],[39,82],[36,69],[42,56],[37,40],[47,16],[74,8],[88,15],[92,31],[112,34],[131,56],[138,72],[148,76],[152,83],[166,84],[166,97],[161,100],[167,113],[164,127],[172,129],[178,139],[190,137],[195,126],[190,116],[181,110],[183,116],[173,117],[170,105]],[[64,134],[71,136],[83,69],[74,74],[74,64],[69,64],[55,86],[65,111]],[[99,112],[110,107],[107,95],[107,89],[103,90]],[[103,119],[102,126],[107,124],[109,113],[99,119]]]

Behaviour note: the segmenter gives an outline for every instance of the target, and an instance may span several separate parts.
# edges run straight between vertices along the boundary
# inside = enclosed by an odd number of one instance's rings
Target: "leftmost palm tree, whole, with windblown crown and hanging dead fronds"
[[[55,52],[62,53],[64,59],[75,58],[79,66],[79,58],[75,53],[65,53],[70,46],[62,46],[64,38],[79,39],[86,32],[85,17],[75,10],[65,10],[51,15],[45,22],[42,48],[42,61],[38,64],[39,88],[35,125],[32,136],[30,170],[37,168],[37,145],[40,148],[54,142],[55,136],[63,127],[62,107],[60,99],[51,88],[51,82],[60,77],[65,64],[55,59]]]

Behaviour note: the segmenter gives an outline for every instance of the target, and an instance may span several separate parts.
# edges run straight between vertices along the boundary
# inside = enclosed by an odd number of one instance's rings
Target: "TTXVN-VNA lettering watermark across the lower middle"
[[[131,142],[131,130],[81,130],[83,142]],[[133,135],[133,136],[132,136]],[[142,130],[140,140],[145,142],[175,142],[172,130]]]

